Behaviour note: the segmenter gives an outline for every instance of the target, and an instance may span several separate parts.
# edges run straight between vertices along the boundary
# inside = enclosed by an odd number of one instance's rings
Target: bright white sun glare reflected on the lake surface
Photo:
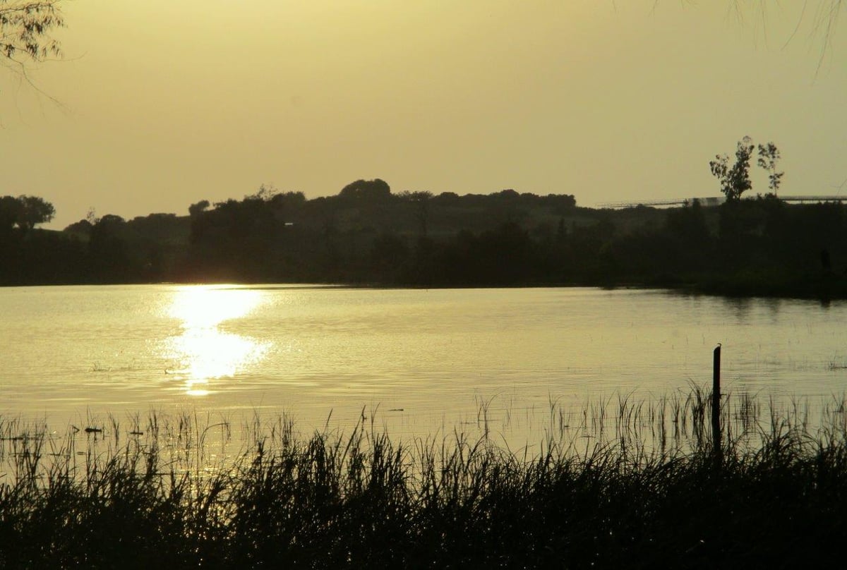
[[[183,331],[168,343],[168,357],[177,362],[169,374],[184,380],[185,394],[208,396],[213,391],[210,380],[231,378],[262,360],[267,342],[220,326],[246,317],[265,302],[263,291],[232,286],[191,285],[176,292],[167,314],[180,319]]]

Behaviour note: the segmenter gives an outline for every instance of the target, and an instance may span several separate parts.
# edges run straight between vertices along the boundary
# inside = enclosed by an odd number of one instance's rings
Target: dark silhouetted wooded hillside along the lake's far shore
[[[311,200],[263,186],[188,210],[90,215],[57,232],[0,208],[0,284],[646,285],[847,296],[844,206],[789,205],[773,194],[611,210],[513,190],[395,194],[377,179]]]

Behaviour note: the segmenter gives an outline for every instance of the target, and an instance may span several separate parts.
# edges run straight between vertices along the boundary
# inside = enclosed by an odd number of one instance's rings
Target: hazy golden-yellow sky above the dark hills
[[[708,163],[745,135],[782,151],[781,193],[837,194],[828,1],[74,0],[64,61],[31,71],[62,108],[0,69],[0,195],[47,198],[54,228],[360,178],[595,206],[717,196]]]

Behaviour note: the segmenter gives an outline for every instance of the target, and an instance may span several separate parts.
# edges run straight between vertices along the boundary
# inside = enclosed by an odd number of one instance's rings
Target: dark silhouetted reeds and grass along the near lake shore
[[[843,561],[843,408],[840,420],[836,409],[812,433],[796,412],[751,422],[745,414],[756,407],[745,400],[740,416],[727,415],[736,427],[728,427],[716,468],[703,422],[708,410],[700,404],[686,418],[658,418],[640,406],[620,410],[619,420],[662,445],[657,422],[684,426],[694,436],[687,450],[647,451],[614,436],[606,445],[548,441],[547,451],[530,458],[460,436],[401,445],[364,424],[352,434],[297,439],[280,423],[256,432],[227,468],[192,456],[207,430],[192,442],[181,423],[162,429],[152,418],[119,444],[116,425],[113,440],[108,429],[55,440],[0,422],[0,567],[757,568]],[[732,434],[742,424],[756,432],[755,445]],[[86,445],[98,437],[101,447]]]

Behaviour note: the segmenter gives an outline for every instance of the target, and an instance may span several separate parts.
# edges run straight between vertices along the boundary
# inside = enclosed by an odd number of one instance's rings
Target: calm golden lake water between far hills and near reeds
[[[290,414],[392,434],[530,439],[551,401],[711,385],[821,401],[847,387],[847,303],[596,289],[133,285],[0,289],[0,416]],[[331,415],[330,415],[331,412]],[[98,419],[99,418],[99,419]],[[328,419],[329,418],[329,419]]]

